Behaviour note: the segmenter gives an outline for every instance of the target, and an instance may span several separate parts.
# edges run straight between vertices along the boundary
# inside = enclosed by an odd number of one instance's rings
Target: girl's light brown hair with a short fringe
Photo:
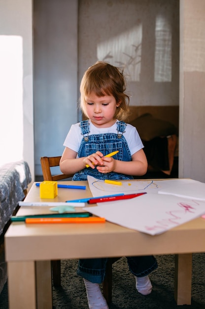
[[[123,71],[108,63],[98,61],[84,73],[80,83],[80,108],[86,115],[85,97],[95,94],[98,97],[112,95],[116,103],[121,102],[116,108],[115,117],[126,120],[129,115],[130,97],[125,93],[126,80]],[[87,115],[86,115],[87,116]]]

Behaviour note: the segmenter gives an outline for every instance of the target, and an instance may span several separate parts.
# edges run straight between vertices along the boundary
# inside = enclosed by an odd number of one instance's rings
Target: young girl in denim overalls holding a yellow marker
[[[73,173],[73,180],[86,180],[87,175],[124,180],[146,173],[147,160],[137,130],[123,121],[129,112],[125,90],[123,72],[110,64],[97,62],[85,72],[80,84],[80,106],[88,120],[71,126],[60,161],[61,171]],[[114,151],[119,152],[105,156]],[[136,278],[137,291],[150,294],[148,274],[157,268],[156,259],[137,256],[127,257],[127,261]],[[108,309],[99,286],[106,262],[105,258],[79,260],[77,273],[84,279],[90,309]]]

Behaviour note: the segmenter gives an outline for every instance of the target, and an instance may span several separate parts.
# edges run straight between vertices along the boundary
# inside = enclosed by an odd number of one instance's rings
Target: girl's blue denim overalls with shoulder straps
[[[96,153],[97,151],[100,151],[102,154],[106,155],[118,150],[119,153],[115,154],[113,158],[123,161],[132,160],[127,141],[123,136],[126,128],[125,122],[117,121],[116,133],[89,135],[89,120],[81,121],[80,128],[83,139],[78,151],[79,157],[88,156]],[[114,172],[102,174],[96,168],[92,169],[89,167],[75,173],[72,180],[87,180],[87,175],[102,180],[133,179],[133,176]],[[148,275],[152,270],[157,268],[157,261],[153,256],[127,257],[127,261],[130,271],[137,277]],[[80,259],[77,274],[93,283],[102,283],[105,275],[106,262],[107,258]]]

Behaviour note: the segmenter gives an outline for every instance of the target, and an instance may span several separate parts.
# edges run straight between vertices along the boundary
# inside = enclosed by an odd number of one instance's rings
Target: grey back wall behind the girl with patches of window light
[[[40,156],[62,154],[97,60],[125,69],[131,105],[178,105],[178,0],[34,0],[35,175]]]

